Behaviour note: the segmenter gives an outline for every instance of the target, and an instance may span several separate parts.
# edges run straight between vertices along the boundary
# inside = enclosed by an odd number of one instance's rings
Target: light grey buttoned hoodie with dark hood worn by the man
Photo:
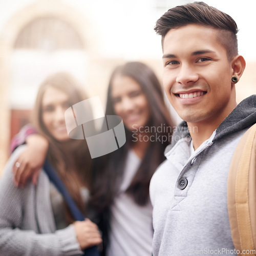
[[[191,151],[182,122],[150,184],[153,255],[236,255],[227,211],[233,152],[256,121],[256,95],[243,100],[211,137]],[[186,184],[187,182],[187,184]]]

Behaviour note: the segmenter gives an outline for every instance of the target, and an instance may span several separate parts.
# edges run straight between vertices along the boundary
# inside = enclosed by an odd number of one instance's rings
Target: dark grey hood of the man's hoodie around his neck
[[[213,141],[217,141],[226,135],[249,128],[256,122],[256,95],[241,101],[237,107],[223,120],[216,130]],[[165,154],[170,151],[180,138],[190,137],[187,123],[182,121],[174,130],[172,143],[165,148]]]

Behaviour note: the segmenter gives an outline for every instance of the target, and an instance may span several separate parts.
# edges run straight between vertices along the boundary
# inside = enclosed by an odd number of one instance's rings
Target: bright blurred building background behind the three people
[[[0,173],[9,145],[30,122],[37,88],[51,73],[67,71],[89,97],[105,104],[112,70],[125,61],[150,65],[161,79],[161,38],[156,20],[184,0],[0,0]],[[230,14],[247,61],[237,85],[240,102],[256,93],[254,1],[205,0]],[[255,72],[255,73],[254,73]]]

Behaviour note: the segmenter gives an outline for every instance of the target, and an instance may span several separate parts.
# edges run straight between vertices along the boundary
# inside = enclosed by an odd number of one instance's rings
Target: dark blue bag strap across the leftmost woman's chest
[[[61,179],[58,177],[57,173],[55,172],[54,168],[51,166],[48,160],[45,161],[44,164],[44,171],[47,174],[49,180],[55,185],[55,187],[58,189],[59,193],[63,196],[63,198],[66,200],[69,209],[76,221],[83,221],[85,218],[81,211],[76,206],[74,200],[69,194],[68,189],[65,187]],[[97,249],[97,246],[92,246],[89,248],[86,248],[84,250],[84,256],[99,256],[99,251]]]

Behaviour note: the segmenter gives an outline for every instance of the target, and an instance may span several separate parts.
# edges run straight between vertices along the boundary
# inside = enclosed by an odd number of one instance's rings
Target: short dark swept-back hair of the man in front
[[[162,36],[162,47],[165,35],[170,29],[180,28],[188,24],[198,24],[219,30],[218,39],[225,47],[227,57],[238,55],[238,27],[228,14],[203,2],[176,6],[164,13],[156,23],[155,31]]]

